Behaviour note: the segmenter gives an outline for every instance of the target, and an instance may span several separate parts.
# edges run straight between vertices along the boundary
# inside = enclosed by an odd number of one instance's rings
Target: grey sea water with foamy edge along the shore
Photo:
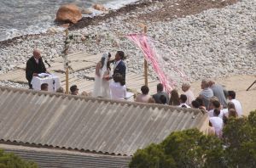
[[[0,41],[26,34],[45,32],[55,25],[55,14],[63,4],[90,8],[100,3],[117,9],[137,0],[0,0]],[[99,14],[93,11],[92,16]]]

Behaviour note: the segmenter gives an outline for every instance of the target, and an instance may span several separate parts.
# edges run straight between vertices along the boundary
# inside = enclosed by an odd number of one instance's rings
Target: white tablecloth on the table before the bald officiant
[[[59,87],[61,87],[61,81],[58,76],[49,75],[44,78],[33,76],[31,84],[34,90],[40,91],[43,83],[48,83],[49,92],[55,92]]]

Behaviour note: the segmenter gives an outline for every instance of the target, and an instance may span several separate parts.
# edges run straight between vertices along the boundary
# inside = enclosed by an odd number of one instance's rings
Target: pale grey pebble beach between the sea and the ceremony
[[[190,81],[255,75],[255,11],[254,0],[139,2],[102,18],[83,19],[73,25],[70,34],[74,42],[69,52],[115,53],[121,49],[127,56],[128,73],[143,73],[143,53],[125,35],[141,31],[137,24],[144,23],[148,26],[148,36],[163,44],[158,49],[166,51],[166,58],[180,64]],[[64,38],[64,32],[52,32],[0,42],[0,74],[26,64],[33,48],[41,49],[44,59],[51,61],[61,54]],[[176,54],[170,55],[169,50]],[[149,72],[156,78],[150,66]],[[83,77],[84,73],[77,75]],[[5,84],[0,82],[0,85]],[[14,87],[20,86],[14,84]]]

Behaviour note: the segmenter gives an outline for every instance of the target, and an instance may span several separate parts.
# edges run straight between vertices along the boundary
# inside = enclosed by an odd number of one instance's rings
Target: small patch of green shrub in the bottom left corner
[[[37,168],[33,162],[21,160],[19,156],[0,149],[0,168]]]

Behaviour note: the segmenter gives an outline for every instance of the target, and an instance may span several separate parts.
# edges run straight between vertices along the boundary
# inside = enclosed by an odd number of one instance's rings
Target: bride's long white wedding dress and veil
[[[103,76],[106,75],[106,73],[108,72],[108,54],[104,53],[102,57],[105,57],[104,65],[102,66],[102,69],[99,70],[100,76],[95,76],[92,96],[100,98],[110,98],[109,81],[103,79]]]

